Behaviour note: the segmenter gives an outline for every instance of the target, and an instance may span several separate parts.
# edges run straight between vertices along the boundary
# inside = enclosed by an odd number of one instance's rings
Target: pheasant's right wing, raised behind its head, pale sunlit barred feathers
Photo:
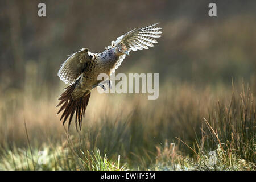
[[[115,40],[115,44],[122,42],[127,47],[127,51],[137,51],[142,49],[148,49],[153,47],[153,43],[158,43],[154,38],[160,38],[162,31],[159,31],[160,27],[156,27],[158,23],[151,24],[143,28],[134,28],[126,34],[119,36]]]

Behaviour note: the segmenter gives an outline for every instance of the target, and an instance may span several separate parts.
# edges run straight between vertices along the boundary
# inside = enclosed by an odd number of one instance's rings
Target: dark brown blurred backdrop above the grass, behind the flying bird
[[[38,3],[46,3],[46,17]],[[217,17],[208,16],[210,2]],[[131,53],[119,72],[159,73],[160,84],[251,79],[256,68],[256,1],[0,1],[1,89],[22,88],[26,69],[38,85],[60,84],[67,55],[101,52],[135,27],[160,22],[154,48]]]

